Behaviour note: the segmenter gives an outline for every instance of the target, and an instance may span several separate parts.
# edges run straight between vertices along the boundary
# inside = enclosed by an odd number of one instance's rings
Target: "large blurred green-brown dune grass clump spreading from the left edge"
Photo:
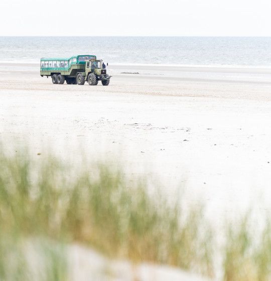
[[[28,280],[32,240],[80,243],[110,258],[213,275],[212,231],[202,206],[184,207],[179,197],[169,202],[106,163],[72,167],[53,156],[2,150],[0,165],[1,280]],[[65,255],[39,249],[47,258],[44,279],[63,279]]]

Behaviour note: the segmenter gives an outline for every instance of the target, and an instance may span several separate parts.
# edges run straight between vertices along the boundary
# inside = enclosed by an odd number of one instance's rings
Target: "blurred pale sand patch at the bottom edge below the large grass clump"
[[[170,266],[134,265],[123,260],[109,260],[97,252],[79,245],[67,248],[72,280],[87,281],[210,281],[197,274]]]

